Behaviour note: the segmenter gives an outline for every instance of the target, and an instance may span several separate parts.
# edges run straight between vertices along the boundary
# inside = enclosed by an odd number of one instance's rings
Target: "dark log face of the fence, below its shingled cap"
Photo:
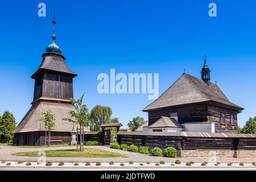
[[[181,150],[222,149],[222,150],[256,150],[256,138],[214,138],[214,137],[180,137],[180,136],[148,136],[117,135],[118,143],[147,146],[149,148],[175,147]]]

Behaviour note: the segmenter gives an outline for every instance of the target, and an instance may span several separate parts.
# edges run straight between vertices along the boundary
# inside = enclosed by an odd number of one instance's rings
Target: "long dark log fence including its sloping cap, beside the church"
[[[256,150],[256,135],[211,134],[188,132],[124,132],[117,134],[119,144],[134,144],[149,148],[175,147],[178,150],[222,149]]]

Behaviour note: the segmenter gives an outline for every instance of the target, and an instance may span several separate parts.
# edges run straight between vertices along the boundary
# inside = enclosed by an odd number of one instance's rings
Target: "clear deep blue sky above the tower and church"
[[[46,3],[46,17],[38,3]],[[217,17],[208,16],[210,2]],[[98,94],[97,76],[109,73],[159,73],[164,92],[183,70],[200,77],[207,54],[212,81],[230,101],[245,108],[238,125],[256,115],[256,2],[251,1],[5,1],[0,6],[0,113],[10,110],[19,122],[30,108],[30,78],[51,43],[56,42],[74,79],[75,98],[112,107],[125,126],[152,101],[147,94]]]

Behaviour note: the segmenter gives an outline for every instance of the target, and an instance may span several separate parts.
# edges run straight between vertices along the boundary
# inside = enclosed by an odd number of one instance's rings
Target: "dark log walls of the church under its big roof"
[[[173,106],[159,110],[148,111],[148,125],[158,121],[161,116],[170,117],[170,113],[177,113],[179,123],[214,122],[215,133],[237,133],[238,111],[225,105],[209,103],[187,106]],[[221,114],[225,114],[225,123],[221,123]],[[234,115],[234,125],[231,125],[230,114]]]

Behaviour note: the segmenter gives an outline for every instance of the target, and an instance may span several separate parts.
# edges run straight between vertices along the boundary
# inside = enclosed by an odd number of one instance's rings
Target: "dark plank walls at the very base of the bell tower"
[[[13,144],[15,146],[44,146],[45,139],[46,139],[45,131],[15,133]],[[48,134],[47,134],[47,140],[48,140]],[[63,140],[62,143],[69,143],[71,142],[71,133],[52,131],[51,140]]]

